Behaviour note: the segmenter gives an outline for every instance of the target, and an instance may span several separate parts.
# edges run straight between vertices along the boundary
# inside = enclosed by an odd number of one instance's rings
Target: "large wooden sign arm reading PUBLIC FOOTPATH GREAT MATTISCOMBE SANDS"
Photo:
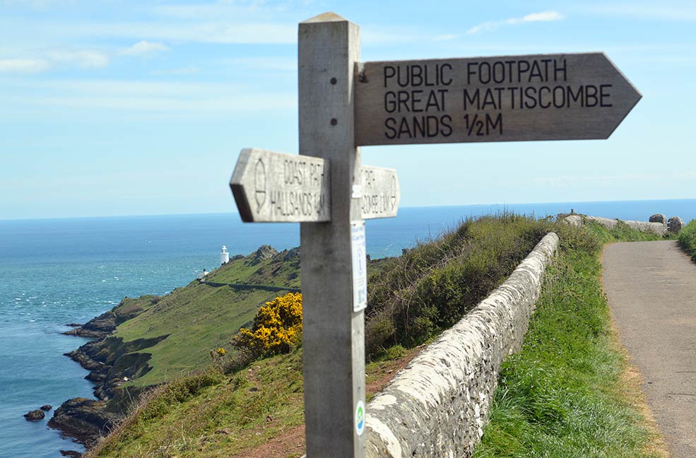
[[[357,66],[358,146],[606,139],[641,98],[603,53]]]

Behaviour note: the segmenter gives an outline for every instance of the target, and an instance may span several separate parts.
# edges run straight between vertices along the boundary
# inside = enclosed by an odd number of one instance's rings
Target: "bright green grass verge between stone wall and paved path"
[[[588,225],[602,242],[655,240],[623,226]],[[587,245],[591,247],[591,245]],[[548,267],[520,353],[500,373],[474,457],[655,457],[627,395],[598,249],[562,249]]]

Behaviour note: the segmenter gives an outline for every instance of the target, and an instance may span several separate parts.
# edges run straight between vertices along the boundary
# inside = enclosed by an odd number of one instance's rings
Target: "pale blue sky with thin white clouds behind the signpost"
[[[363,148],[401,206],[696,198],[693,1],[0,0],[0,219],[231,211],[241,148],[297,152],[297,23],[362,60],[606,52],[606,141]]]

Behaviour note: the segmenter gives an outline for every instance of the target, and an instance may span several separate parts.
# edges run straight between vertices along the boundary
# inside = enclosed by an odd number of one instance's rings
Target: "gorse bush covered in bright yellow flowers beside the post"
[[[252,329],[242,328],[233,344],[254,356],[290,353],[302,339],[302,294],[288,293],[262,306]]]

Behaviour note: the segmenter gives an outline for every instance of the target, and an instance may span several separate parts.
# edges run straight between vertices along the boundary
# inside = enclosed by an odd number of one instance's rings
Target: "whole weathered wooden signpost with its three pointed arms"
[[[362,458],[364,220],[400,191],[360,146],[605,139],[641,95],[604,54],[360,63],[334,13],[300,23],[298,60],[300,155],[242,150],[230,187],[243,221],[300,222],[307,457]]]

